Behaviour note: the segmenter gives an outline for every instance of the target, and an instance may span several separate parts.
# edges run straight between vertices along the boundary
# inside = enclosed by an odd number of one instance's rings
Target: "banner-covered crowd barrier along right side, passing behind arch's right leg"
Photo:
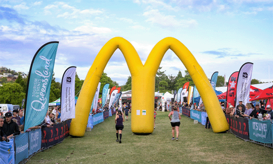
[[[206,113],[182,107],[182,114],[205,125]],[[247,119],[225,114],[229,132],[245,140],[273,148],[272,120]]]

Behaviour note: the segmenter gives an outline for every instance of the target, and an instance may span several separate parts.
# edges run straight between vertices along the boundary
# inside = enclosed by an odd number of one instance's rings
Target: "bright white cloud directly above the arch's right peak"
[[[146,22],[157,23],[164,27],[189,27],[196,26],[198,22],[195,19],[177,19],[174,15],[164,15],[158,9],[152,9],[143,13],[146,16]]]

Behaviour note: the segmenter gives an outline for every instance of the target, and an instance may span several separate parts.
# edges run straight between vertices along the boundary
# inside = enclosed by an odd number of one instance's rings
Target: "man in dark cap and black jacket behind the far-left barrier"
[[[5,120],[3,125],[3,131],[7,136],[7,139],[10,137],[20,134],[18,125],[11,119],[12,114],[10,112],[5,113]]]

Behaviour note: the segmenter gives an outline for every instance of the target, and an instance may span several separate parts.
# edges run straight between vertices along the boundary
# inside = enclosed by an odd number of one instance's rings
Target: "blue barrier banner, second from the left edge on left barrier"
[[[15,136],[15,164],[28,158],[28,132]]]

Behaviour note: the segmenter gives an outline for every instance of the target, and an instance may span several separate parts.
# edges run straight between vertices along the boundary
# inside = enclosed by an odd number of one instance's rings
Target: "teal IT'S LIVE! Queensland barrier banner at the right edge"
[[[270,120],[249,120],[249,138],[265,144],[272,144],[272,125]]]

